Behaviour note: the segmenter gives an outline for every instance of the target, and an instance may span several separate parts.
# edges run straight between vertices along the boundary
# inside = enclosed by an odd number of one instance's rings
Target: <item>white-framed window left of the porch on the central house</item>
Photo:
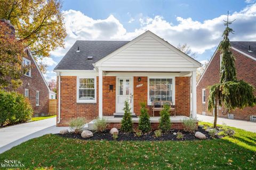
[[[96,78],[77,78],[77,102],[96,103]]]

